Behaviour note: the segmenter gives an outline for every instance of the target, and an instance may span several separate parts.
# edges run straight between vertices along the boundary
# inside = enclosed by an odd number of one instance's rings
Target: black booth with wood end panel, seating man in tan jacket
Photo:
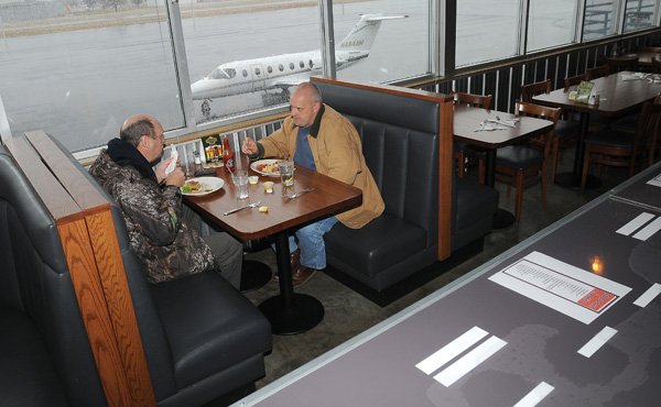
[[[481,251],[498,193],[456,177],[452,98],[323,78],[313,82],[324,102],[356,127],[386,202],[383,215],[366,227],[338,223],[326,234],[326,272],[387,305]]]

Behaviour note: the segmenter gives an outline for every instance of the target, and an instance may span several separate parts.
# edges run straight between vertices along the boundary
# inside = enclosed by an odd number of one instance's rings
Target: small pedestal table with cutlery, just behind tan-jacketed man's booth
[[[517,118],[513,127],[497,125],[498,130],[485,129],[484,123],[506,121]],[[491,122],[492,123],[492,122]],[[485,185],[494,187],[496,183],[496,152],[500,147],[521,143],[528,139],[544,134],[553,128],[553,122],[478,107],[456,105],[454,109],[454,140],[483,148],[485,151]],[[514,222],[514,216],[498,208],[494,216],[494,228],[503,229]]]

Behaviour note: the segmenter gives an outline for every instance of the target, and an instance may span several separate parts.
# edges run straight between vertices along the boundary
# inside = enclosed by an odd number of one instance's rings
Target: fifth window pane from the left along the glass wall
[[[577,7],[577,0],[530,0],[527,51],[573,43]]]

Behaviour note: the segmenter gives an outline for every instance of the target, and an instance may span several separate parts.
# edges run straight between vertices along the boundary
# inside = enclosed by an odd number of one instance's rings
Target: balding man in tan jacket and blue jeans
[[[290,98],[290,117],[282,129],[254,142],[247,139],[242,151],[251,158],[286,157],[296,165],[316,170],[362,190],[358,208],[322,219],[299,229],[290,237],[294,286],[305,283],[317,270],[326,267],[324,234],[337,223],[359,229],[383,212],[383,199],[362,156],[356,128],[324,105],[312,82],[299,85]]]

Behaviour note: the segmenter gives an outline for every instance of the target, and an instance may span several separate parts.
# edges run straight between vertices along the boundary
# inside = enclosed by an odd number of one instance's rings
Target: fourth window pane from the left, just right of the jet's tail
[[[457,1],[457,66],[519,54],[520,0]]]

